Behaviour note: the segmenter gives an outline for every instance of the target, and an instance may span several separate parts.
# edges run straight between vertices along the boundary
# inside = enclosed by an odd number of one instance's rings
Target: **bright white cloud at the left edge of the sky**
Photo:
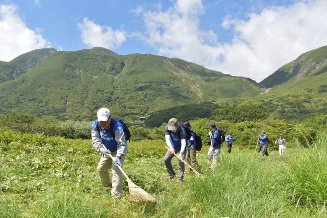
[[[38,32],[31,30],[17,14],[16,5],[0,6],[0,60],[10,61],[34,49],[50,47]]]

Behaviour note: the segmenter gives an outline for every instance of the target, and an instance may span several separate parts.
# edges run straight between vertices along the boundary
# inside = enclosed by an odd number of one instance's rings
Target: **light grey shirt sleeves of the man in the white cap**
[[[99,128],[103,129],[100,125]],[[108,127],[109,129],[109,127]],[[100,148],[102,148],[102,141],[100,132],[98,131],[97,127],[94,127],[91,130],[92,135],[92,145],[99,152]],[[115,140],[117,141],[117,156],[122,156],[127,154],[127,142],[124,135],[124,130],[122,126],[118,126],[115,131]]]

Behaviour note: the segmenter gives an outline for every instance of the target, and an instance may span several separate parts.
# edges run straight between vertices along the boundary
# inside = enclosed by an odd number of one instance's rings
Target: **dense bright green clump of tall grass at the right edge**
[[[281,168],[281,187],[296,206],[325,208],[327,203],[327,133],[319,132],[308,149],[298,148]]]

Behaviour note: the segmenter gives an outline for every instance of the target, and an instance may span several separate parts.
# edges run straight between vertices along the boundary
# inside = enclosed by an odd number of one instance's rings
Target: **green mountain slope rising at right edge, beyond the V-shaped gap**
[[[264,105],[270,116],[302,119],[327,112],[327,46],[301,54],[260,83],[265,94],[247,99],[228,99],[216,104]]]

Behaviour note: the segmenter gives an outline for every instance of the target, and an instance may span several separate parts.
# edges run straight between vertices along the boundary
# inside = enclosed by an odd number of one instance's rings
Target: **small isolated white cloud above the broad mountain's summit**
[[[113,49],[119,47],[126,40],[123,30],[113,30],[112,27],[100,26],[88,18],[77,24],[83,43],[90,47],[105,47]]]

